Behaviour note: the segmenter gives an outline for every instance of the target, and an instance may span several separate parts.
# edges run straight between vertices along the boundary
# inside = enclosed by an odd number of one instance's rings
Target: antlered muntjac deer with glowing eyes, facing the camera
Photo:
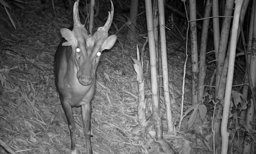
[[[90,35],[81,24],[78,4],[79,0],[75,2],[73,9],[74,28],[60,29],[61,36],[65,39],[61,41],[55,54],[55,84],[68,120],[71,154],[77,154],[73,106],[81,106],[87,153],[92,154],[91,101],[95,93],[96,68],[101,52],[112,48],[117,36],[108,36],[114,15],[112,1],[105,25],[99,27],[94,35]]]

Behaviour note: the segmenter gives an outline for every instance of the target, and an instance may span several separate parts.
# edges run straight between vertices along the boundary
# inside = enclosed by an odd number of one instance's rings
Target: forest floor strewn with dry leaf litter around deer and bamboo
[[[69,27],[70,24],[62,1],[54,1],[54,3],[55,10],[52,1],[37,5],[27,4],[23,9],[14,8],[11,16],[17,29],[13,28],[6,13],[1,12],[6,20],[0,24],[0,73],[5,77],[0,95],[0,139],[14,151],[22,154],[70,153],[69,128],[56,91],[53,72],[54,54],[61,40],[59,30],[63,25]],[[109,5],[109,1],[100,4],[100,19],[106,19]],[[127,6],[129,6],[128,2]],[[120,6],[115,1],[114,7],[119,13],[122,9],[127,9],[125,5]],[[140,12],[142,11],[139,9]],[[124,15],[128,16],[128,13]],[[115,19],[113,23],[116,27],[112,26],[110,35],[115,34],[124,24]],[[95,28],[103,25],[104,21],[96,17]],[[141,50],[145,42],[144,37],[147,36],[145,14],[138,17],[138,25],[137,43]],[[175,96],[173,99],[176,103],[172,113],[177,127],[186,57],[185,35],[179,36],[177,29],[168,28],[166,33],[171,34],[167,35],[169,82]],[[117,33],[116,44],[110,50],[103,52],[97,68],[96,94],[92,101],[91,120],[93,152],[95,154],[159,153],[152,148],[153,139],[146,132],[155,131],[152,120],[148,46],[144,52],[144,76],[146,115],[151,127],[149,125],[145,130],[144,127],[139,127],[137,119],[138,84],[132,60],[137,58],[136,43],[126,37],[125,30],[124,27]],[[186,72],[185,109],[191,104],[188,101],[191,98],[190,62],[187,64]],[[163,97],[160,98],[165,141],[172,144],[178,152],[186,140],[189,140],[193,147],[207,150],[205,145],[198,144],[199,141],[204,141],[203,136],[200,137],[195,131],[187,130],[186,118],[177,138],[166,135],[165,107]],[[80,153],[86,153],[81,109],[75,107],[73,111],[76,145]],[[204,131],[208,132],[210,129],[208,127]],[[195,153],[198,150],[196,149],[192,148],[191,152]],[[5,152],[2,149],[0,153]]]

